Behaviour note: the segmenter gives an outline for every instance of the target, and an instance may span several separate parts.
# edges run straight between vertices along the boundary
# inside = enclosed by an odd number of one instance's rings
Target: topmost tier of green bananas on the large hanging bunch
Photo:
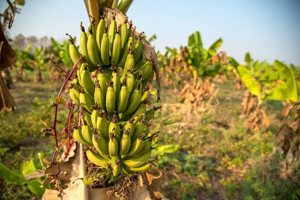
[[[94,25],[94,19],[87,32],[85,32],[82,22],[80,22],[80,52],[74,44],[73,38],[69,35],[69,54],[75,63],[81,56],[82,60],[88,64],[88,71],[92,72],[98,69],[98,65],[117,66],[121,68],[122,79],[132,69],[135,77],[142,71],[142,83],[145,85],[154,76],[152,61],[147,60],[144,63],[142,52],[143,32],[138,34],[138,39],[134,40],[135,26],[132,27],[131,20],[126,18],[122,24],[117,26],[114,15],[110,21],[105,21],[105,13],[101,16],[97,27]],[[128,24],[128,27],[127,27]],[[82,61],[79,62],[78,68]]]

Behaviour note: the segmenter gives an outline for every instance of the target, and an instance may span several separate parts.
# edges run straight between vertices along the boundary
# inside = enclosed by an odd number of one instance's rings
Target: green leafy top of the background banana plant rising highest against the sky
[[[205,78],[206,76],[214,76],[221,69],[222,64],[210,64],[211,58],[220,48],[223,43],[222,38],[218,38],[213,42],[208,49],[205,49],[202,45],[201,35],[199,31],[195,31],[188,37],[188,57],[186,62],[189,68],[192,70],[193,77]]]

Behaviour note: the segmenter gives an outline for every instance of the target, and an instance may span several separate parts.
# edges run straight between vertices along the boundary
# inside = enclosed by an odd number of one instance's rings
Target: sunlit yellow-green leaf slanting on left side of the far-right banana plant
[[[239,65],[237,67],[237,71],[241,77],[241,81],[244,83],[244,85],[250,90],[250,92],[253,95],[259,96],[260,93],[260,85],[254,77],[251,75],[251,73],[248,71],[248,69],[244,66]]]

